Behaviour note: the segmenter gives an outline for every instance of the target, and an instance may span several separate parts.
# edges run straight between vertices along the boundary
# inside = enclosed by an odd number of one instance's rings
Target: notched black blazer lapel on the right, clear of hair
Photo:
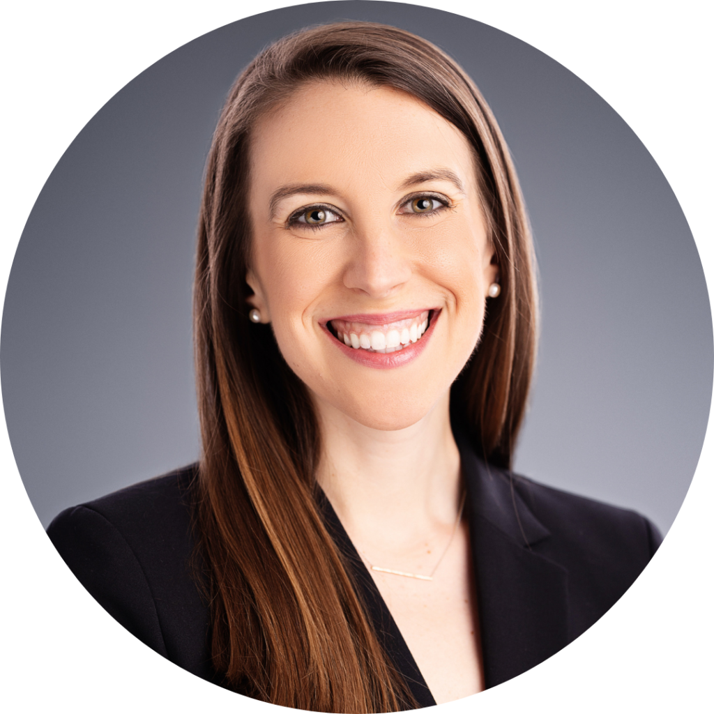
[[[550,533],[518,497],[513,476],[467,444],[459,448],[488,688],[568,644],[568,571],[533,550]]]

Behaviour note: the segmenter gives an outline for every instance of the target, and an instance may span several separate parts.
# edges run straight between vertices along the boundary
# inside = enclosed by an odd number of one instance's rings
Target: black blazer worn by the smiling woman
[[[661,541],[633,511],[487,466],[460,444],[486,687],[542,662],[593,625]],[[189,466],[57,516],[47,533],[89,593],[142,642],[220,684],[191,554]],[[386,604],[326,498],[333,538],[386,653],[421,706],[435,702]]]

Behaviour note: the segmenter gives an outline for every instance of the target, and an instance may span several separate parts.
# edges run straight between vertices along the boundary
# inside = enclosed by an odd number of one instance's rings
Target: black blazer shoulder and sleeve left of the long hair
[[[192,533],[196,465],[68,508],[47,535],[70,570],[132,634],[208,678],[208,609]]]

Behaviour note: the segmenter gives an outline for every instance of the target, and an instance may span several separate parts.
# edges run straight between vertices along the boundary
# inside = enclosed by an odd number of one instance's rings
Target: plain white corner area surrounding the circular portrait
[[[49,0],[4,11],[0,178],[6,230],[0,285],[47,176],[116,91],[176,47],[291,2]],[[711,21],[679,0],[499,0],[419,3],[509,32],[564,64],[603,96],[658,161],[714,285],[711,204]],[[4,300],[4,291],[3,296]],[[4,412],[0,412],[4,420]],[[710,554],[713,437],[653,563],[608,615],[537,668],[478,698],[443,705],[491,714],[709,711],[714,670]],[[140,645],[90,597],[55,552],[0,426],[4,543],[1,700],[13,712],[63,703],[76,713],[269,710],[221,690]]]

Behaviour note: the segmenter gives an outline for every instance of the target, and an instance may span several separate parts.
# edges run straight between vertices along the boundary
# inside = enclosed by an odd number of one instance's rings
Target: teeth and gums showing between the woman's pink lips
[[[379,352],[382,354],[398,352],[421,339],[431,320],[431,311],[425,310],[418,315],[383,324],[331,320],[328,330],[346,346],[356,350]]]

